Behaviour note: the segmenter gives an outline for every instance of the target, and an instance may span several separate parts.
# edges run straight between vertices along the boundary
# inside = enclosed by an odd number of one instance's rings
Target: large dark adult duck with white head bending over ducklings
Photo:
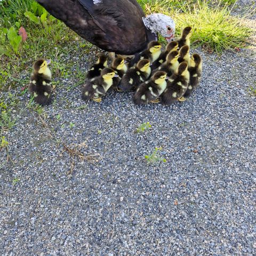
[[[145,17],[136,0],[37,0],[55,18],[90,43],[116,54],[133,55],[157,34],[174,38],[175,23],[167,15]]]

